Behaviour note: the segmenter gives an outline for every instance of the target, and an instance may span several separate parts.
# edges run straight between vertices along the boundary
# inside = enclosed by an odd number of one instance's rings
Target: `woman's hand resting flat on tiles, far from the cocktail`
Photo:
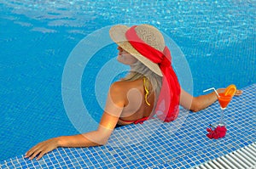
[[[48,153],[49,151],[56,149],[58,147],[58,138],[51,138],[46,140],[42,143],[39,143],[29,149],[26,152],[26,158],[30,158],[31,160],[38,155],[37,160],[39,160],[44,154]]]

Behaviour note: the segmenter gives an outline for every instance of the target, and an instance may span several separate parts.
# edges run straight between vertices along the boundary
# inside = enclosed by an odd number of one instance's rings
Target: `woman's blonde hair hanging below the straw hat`
[[[151,84],[151,91],[149,91],[149,93],[151,94],[154,91],[155,105],[160,94],[160,89],[162,87],[162,77],[155,74],[152,70],[148,69],[148,67],[146,65],[143,65],[142,62],[137,60],[136,63],[131,65],[131,71],[124,78],[120,79],[120,81],[131,82],[143,77],[146,77]]]

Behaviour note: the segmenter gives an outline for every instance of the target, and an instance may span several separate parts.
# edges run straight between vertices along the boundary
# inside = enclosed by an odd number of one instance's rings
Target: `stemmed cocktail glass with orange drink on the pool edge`
[[[217,124],[212,125],[213,127],[218,127],[218,126],[225,126],[224,123],[224,110],[227,108],[228,104],[230,103],[232,99],[231,95],[225,95],[224,90],[219,90],[218,91],[218,103],[221,108],[221,113],[220,113],[220,120],[217,122]]]

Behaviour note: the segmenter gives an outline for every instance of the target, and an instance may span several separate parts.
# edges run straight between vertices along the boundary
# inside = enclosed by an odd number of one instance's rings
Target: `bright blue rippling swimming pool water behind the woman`
[[[255,1],[0,0],[0,8],[0,161],[47,138],[79,133],[64,109],[62,73],[73,48],[108,25],[147,23],[165,32],[188,60],[194,95],[256,82]],[[84,69],[82,95],[96,121],[102,115],[96,73],[115,48],[102,48],[104,57]]]

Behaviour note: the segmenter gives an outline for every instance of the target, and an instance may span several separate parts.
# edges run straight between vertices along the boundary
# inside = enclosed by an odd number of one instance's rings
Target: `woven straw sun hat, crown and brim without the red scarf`
[[[126,52],[134,56],[141,61],[143,65],[146,65],[150,70],[154,71],[159,76],[163,76],[158,64],[155,64],[151,60],[144,57],[133,48],[125,37],[125,32],[129,29],[126,25],[114,25],[109,31],[109,35],[113,42],[116,42],[119,47],[123,48]],[[160,50],[161,52],[166,47],[165,40],[158,29],[152,25],[137,25],[135,28],[137,36],[140,37],[143,42],[147,43],[151,47]]]

